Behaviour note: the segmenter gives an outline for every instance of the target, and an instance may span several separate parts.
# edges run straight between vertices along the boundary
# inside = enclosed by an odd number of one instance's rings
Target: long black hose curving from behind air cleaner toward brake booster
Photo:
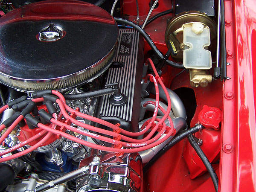
[[[116,20],[116,22],[132,26],[134,29],[136,29],[138,32],[140,32],[140,34],[143,36],[143,38],[145,38],[145,40],[148,42],[149,46],[155,52],[155,54],[160,59],[163,59],[163,54],[159,51],[159,49],[157,49],[157,46],[154,44],[152,39],[148,36],[148,34],[139,25],[137,25],[136,23],[134,23],[130,20],[126,20],[126,19],[119,18],[119,17],[114,17],[114,19]],[[169,64],[172,67],[184,69],[183,64],[179,64],[179,63],[176,63],[176,62],[170,61],[170,60],[166,60],[166,63]]]

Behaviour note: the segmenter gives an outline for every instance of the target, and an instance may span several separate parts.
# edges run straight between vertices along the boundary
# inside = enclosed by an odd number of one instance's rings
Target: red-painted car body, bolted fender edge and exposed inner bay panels
[[[148,1],[149,2],[149,1]],[[130,15],[130,20],[136,19],[136,3],[123,1],[124,14]],[[216,3],[216,2],[215,2]],[[139,0],[140,18],[145,19],[148,9],[143,0]],[[254,0],[224,0],[226,48],[227,48],[227,78],[216,83],[213,89],[194,89],[197,100],[197,110],[191,124],[197,121],[196,114],[202,105],[217,105],[222,108],[221,151],[219,168],[219,191],[256,191],[256,1]],[[159,2],[155,12],[170,9],[168,1]],[[154,12],[153,14],[154,15]],[[165,52],[164,32],[166,21],[158,19],[145,28],[151,35],[158,49]],[[155,30],[157,29],[157,30]],[[160,30],[159,30],[160,29]],[[147,45],[145,49],[147,50]],[[173,69],[168,69],[173,74]],[[179,81],[172,89],[189,87]],[[185,78],[180,78],[184,80]],[[177,81],[176,81],[177,82]],[[215,83],[215,82],[214,82]],[[208,101],[202,93],[209,96]],[[209,94],[208,94],[209,93]],[[220,96],[221,95],[221,96]],[[221,104],[216,101],[221,100]],[[222,106],[220,106],[222,105]],[[195,180],[186,179],[187,170],[183,163],[182,151],[184,143],[169,150],[164,157],[152,166],[145,175],[145,187],[148,191],[214,191],[208,177]],[[173,157],[173,154],[180,158]],[[164,166],[163,166],[164,165]],[[178,173],[177,173],[178,172]],[[201,180],[200,180],[201,179]]]

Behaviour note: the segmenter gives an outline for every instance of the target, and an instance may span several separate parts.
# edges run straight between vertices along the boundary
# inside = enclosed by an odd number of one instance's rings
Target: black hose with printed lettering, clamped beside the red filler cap
[[[194,134],[204,127],[202,125],[197,125],[193,128],[190,128],[186,131],[183,131],[181,134],[174,137],[169,143],[167,143],[160,151],[157,152],[157,154],[154,155],[154,157],[148,161],[148,163],[143,167],[143,173],[148,172],[148,169],[161,157],[163,154],[166,153],[170,148],[172,148],[174,145],[179,143],[181,140],[185,139],[189,134]]]

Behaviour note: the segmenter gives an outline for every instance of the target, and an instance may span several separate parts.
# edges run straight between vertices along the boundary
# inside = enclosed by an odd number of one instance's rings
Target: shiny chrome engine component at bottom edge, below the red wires
[[[143,185],[142,159],[139,154],[123,154],[92,149],[96,154],[81,161],[81,166],[89,166],[88,175],[77,180],[77,192],[105,191],[141,192]]]

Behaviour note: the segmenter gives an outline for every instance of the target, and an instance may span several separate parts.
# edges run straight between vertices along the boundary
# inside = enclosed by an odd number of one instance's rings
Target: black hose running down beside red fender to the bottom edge
[[[198,143],[195,141],[192,134],[189,134],[187,136],[190,145],[195,149],[195,152],[198,154],[202,162],[204,163],[204,166],[206,167],[207,171],[210,174],[210,177],[212,178],[212,182],[215,188],[215,191],[218,192],[218,176],[215,172],[215,170],[212,167],[212,164],[207,159],[206,155],[204,154],[204,151],[199,147]]]

